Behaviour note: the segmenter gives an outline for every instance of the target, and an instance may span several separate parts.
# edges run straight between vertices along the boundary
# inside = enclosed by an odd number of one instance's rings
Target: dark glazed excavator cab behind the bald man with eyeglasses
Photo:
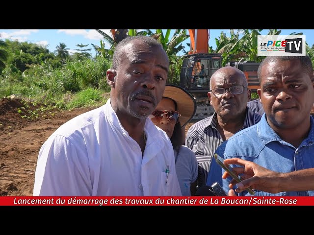
[[[180,86],[190,93],[207,93],[211,75],[221,68],[221,54],[185,55],[180,73]]]

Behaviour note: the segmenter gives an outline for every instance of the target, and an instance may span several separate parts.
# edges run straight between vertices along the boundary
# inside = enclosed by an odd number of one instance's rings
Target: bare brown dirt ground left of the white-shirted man
[[[72,111],[43,108],[18,98],[0,99],[0,196],[32,196],[41,145],[60,125],[95,107]]]

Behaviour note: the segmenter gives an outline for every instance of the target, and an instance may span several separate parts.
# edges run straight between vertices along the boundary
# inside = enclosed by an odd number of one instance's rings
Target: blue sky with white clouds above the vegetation
[[[109,29],[101,30],[111,35]],[[155,32],[155,29],[151,30]],[[216,47],[214,39],[219,37],[221,31],[230,36],[229,29],[210,29],[209,46]],[[268,30],[264,29],[262,34],[267,32]],[[281,35],[289,35],[292,32],[303,32],[303,35],[306,35],[308,45],[312,47],[314,44],[314,29],[282,29]],[[89,44],[87,48],[92,48],[93,55],[95,55],[95,50],[91,44],[100,46],[100,40],[103,39],[95,29],[0,29],[0,39],[6,38],[40,44],[52,52],[59,43],[65,43],[70,48],[70,52],[76,52],[77,44]],[[183,43],[187,51],[189,47],[186,46],[186,43],[189,43],[189,40]]]

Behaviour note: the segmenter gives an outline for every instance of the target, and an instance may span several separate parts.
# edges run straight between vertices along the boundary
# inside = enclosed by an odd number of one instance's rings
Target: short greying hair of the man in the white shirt
[[[125,53],[123,51],[123,47],[125,47],[127,44],[129,44],[133,40],[140,40],[144,44],[147,44],[152,47],[162,47],[161,43],[159,43],[155,38],[149,37],[149,36],[142,36],[142,35],[137,35],[137,36],[129,36],[123,39],[121,42],[119,42],[114,49],[113,52],[113,58],[112,58],[112,66],[111,69],[117,70],[120,62],[121,62],[121,55]]]

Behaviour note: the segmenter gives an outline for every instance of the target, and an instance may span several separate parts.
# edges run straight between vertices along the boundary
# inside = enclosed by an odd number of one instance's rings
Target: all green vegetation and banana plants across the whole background
[[[59,43],[54,52],[36,44],[10,40],[0,40],[0,98],[12,94],[59,109],[73,109],[105,103],[110,91],[105,73],[110,68],[116,43],[113,39],[96,29],[104,40],[100,47],[93,44],[96,56],[92,57],[88,45],[78,44],[78,52],[71,55],[64,43]],[[257,57],[257,36],[262,29],[230,30],[231,37],[221,32],[215,39],[216,49],[209,48],[210,53],[221,53],[223,66],[228,61],[251,60],[260,62]],[[269,35],[278,35],[281,30],[269,30]],[[167,83],[179,85],[183,57],[187,54],[182,43],[189,36],[186,29],[177,29],[170,38],[170,30],[165,34],[161,29],[152,32],[147,29],[137,32],[130,29],[129,35],[147,35],[157,38],[166,50],[170,60]],[[294,35],[302,35],[293,33]],[[106,48],[105,48],[106,46]],[[108,49],[107,49],[108,48]],[[307,54],[314,62],[314,45],[306,46]],[[257,94],[252,96],[258,97]],[[18,110],[22,114],[23,110]],[[30,116],[40,115],[40,110]],[[27,116],[28,117],[28,116]],[[26,117],[26,118],[27,118]]]

